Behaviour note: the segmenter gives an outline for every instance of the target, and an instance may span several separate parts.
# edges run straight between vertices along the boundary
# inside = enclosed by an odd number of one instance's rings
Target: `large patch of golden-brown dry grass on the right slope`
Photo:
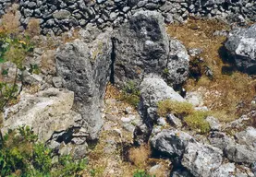
[[[250,109],[256,82],[248,75],[233,70],[232,64],[222,60],[219,50],[226,37],[213,36],[215,30],[221,29],[229,30],[229,27],[217,20],[189,19],[186,24],[168,26],[168,33],[182,41],[187,48],[201,48],[205,65],[213,71],[212,80],[203,75],[198,81],[190,78],[185,88],[203,92],[206,106],[227,114],[228,120],[232,120]],[[231,68],[230,75],[223,74],[224,68]],[[238,105],[241,106],[238,108]]]

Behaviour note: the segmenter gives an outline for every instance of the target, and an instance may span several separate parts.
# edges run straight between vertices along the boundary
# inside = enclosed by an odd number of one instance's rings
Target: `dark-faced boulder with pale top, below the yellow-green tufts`
[[[189,142],[195,139],[178,130],[163,130],[151,138],[152,148],[169,158],[181,158]]]

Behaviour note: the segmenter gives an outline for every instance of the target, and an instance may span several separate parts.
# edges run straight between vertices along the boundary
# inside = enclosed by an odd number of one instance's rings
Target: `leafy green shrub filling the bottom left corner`
[[[70,156],[53,160],[55,152],[37,142],[28,126],[9,131],[0,149],[0,176],[79,176],[86,159],[74,161]]]

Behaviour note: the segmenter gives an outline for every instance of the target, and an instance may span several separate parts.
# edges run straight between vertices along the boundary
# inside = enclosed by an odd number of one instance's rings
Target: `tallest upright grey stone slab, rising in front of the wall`
[[[140,81],[150,73],[161,75],[168,53],[169,38],[161,14],[137,12],[115,35],[115,82]]]

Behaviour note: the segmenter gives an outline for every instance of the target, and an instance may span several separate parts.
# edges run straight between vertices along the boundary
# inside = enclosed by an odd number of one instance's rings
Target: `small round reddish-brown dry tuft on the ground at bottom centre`
[[[144,168],[151,154],[151,149],[147,145],[140,148],[131,148],[128,152],[128,159],[137,167]]]

